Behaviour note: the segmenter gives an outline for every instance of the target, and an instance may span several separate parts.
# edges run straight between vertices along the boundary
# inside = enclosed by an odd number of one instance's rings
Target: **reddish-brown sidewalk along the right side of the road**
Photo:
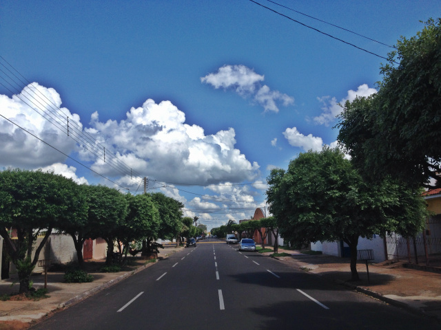
[[[404,267],[404,263],[369,264],[370,281],[368,281],[366,264],[359,262],[357,270],[360,281],[351,282],[349,258],[325,254],[309,255],[278,249],[279,254],[283,252],[291,256],[276,259],[287,265],[346,285],[390,305],[436,318],[441,322],[441,268],[439,272],[425,272]]]

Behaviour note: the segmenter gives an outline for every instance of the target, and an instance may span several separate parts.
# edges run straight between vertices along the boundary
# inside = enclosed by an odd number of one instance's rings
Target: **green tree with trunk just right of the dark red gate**
[[[106,265],[112,264],[114,242],[127,215],[128,202],[114,188],[86,186],[89,197],[88,223],[90,238],[101,237],[107,243]]]

